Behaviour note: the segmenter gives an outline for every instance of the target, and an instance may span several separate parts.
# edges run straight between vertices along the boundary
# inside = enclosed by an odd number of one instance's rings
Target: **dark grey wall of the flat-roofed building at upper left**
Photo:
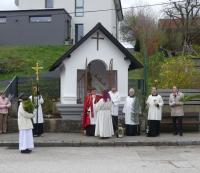
[[[30,16],[51,16],[51,22],[31,23]],[[0,12],[7,22],[0,24],[0,45],[62,45],[67,38],[65,10],[34,10]]]

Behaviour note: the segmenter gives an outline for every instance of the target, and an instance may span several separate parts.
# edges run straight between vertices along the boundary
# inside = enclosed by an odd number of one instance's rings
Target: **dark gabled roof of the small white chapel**
[[[131,64],[129,70],[142,68],[143,65],[135,59],[135,57],[101,24],[98,23],[92,30],[90,30],[78,43],[76,43],[71,49],[69,49],[64,55],[62,55],[49,69],[53,71],[58,68],[66,58],[70,58],[71,53],[74,52],[80,45],[82,45],[90,36],[96,31],[100,30],[110,41],[125,55],[125,60],[130,60]]]

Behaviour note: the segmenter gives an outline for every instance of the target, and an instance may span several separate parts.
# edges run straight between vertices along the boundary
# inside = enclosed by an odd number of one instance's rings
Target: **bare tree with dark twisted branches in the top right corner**
[[[165,8],[165,14],[173,22],[170,24],[176,26],[182,34],[182,45],[188,46],[197,36],[200,36],[200,1],[185,0],[184,2],[171,2],[170,6]]]

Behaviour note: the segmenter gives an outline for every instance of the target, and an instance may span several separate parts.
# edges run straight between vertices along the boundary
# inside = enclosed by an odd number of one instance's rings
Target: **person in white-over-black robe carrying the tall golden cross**
[[[34,118],[33,118],[33,135],[35,137],[39,137],[44,133],[44,116],[42,111],[42,104],[44,103],[44,99],[42,95],[37,92],[37,87],[33,87],[33,95],[30,96],[29,99],[34,103]]]

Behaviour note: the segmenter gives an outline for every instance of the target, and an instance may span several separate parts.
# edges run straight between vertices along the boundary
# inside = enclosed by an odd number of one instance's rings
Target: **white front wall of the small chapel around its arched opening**
[[[65,70],[61,73],[61,103],[75,104],[77,99],[77,69],[85,69],[85,60],[88,63],[100,59],[108,66],[113,58],[113,70],[117,70],[118,91],[122,98],[128,93],[128,67],[130,62],[124,60],[125,55],[105,37],[100,40],[99,51],[96,49],[96,40],[88,38],[77,48],[69,59],[63,61]]]

